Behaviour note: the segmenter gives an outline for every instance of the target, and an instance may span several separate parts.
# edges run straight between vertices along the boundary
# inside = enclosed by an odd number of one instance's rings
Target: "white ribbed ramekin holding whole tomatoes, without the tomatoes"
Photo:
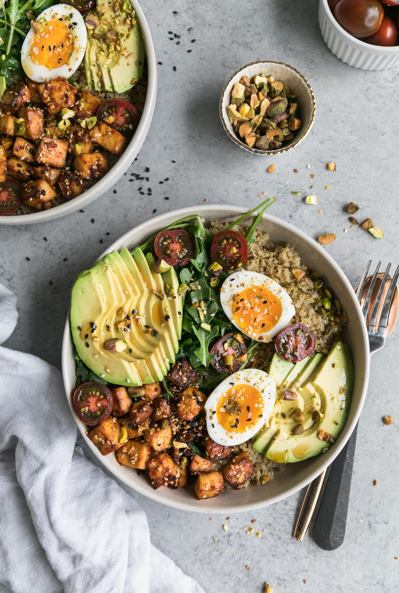
[[[329,50],[353,68],[388,70],[399,62],[399,46],[371,45],[352,37],[334,19],[327,0],[320,0],[318,4],[318,23]]]

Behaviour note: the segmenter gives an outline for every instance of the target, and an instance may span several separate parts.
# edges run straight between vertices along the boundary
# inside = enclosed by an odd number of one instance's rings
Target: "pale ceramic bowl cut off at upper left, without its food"
[[[140,123],[136,132],[134,133],[133,138],[126,148],[126,151],[124,151],[123,155],[118,159],[111,170],[108,171],[108,173],[102,177],[93,187],[88,189],[87,192],[82,193],[80,196],[73,198],[65,204],[55,206],[50,210],[34,212],[33,214],[22,214],[19,216],[0,216],[0,225],[20,225],[32,224],[34,222],[47,222],[87,206],[90,202],[93,202],[99,196],[102,196],[105,192],[108,192],[110,187],[117,183],[118,179],[123,176],[125,171],[127,171],[131,163],[139,154],[140,148],[143,146],[143,142],[146,139],[148,130],[150,129],[152,116],[155,109],[157,75],[155,50],[146,17],[144,17],[144,12],[141,10],[137,0],[131,0],[131,4],[136,11],[137,20],[140,23],[141,33],[143,33],[144,44],[146,46],[148,85],[146,102],[144,104],[143,113],[141,114]]]

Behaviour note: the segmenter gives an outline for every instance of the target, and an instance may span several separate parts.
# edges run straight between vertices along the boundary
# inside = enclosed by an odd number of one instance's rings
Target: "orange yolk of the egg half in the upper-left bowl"
[[[63,21],[49,21],[31,44],[31,59],[49,70],[69,64],[73,52],[73,34]]]

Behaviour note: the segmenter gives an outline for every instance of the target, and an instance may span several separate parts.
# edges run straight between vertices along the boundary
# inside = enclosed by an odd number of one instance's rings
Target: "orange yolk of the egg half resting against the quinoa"
[[[281,302],[263,286],[244,288],[231,303],[233,321],[246,334],[262,334],[271,330],[282,313]]]

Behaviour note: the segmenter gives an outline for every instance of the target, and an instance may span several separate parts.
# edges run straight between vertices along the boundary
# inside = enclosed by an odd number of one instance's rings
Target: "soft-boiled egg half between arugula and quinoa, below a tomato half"
[[[220,289],[220,302],[231,323],[258,342],[270,342],[295,315],[284,288],[259,272],[231,274]]]

